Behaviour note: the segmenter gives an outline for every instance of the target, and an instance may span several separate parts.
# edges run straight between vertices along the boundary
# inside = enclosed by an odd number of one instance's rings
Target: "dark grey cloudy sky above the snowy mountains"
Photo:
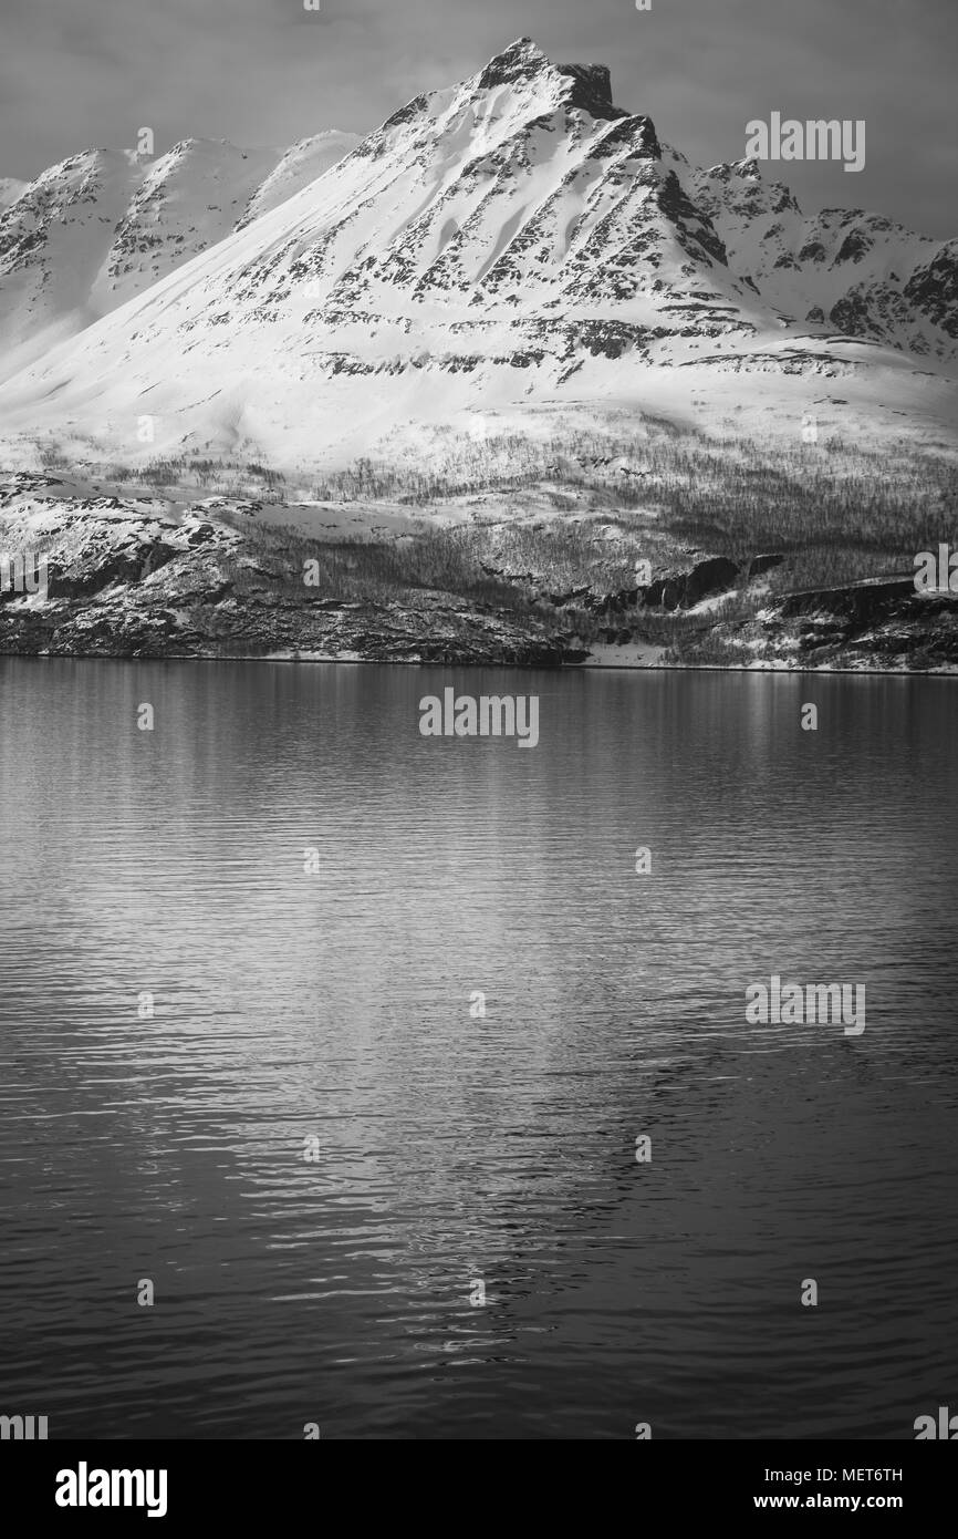
[[[769,168],[804,208],[958,234],[958,0],[0,0],[0,175],[89,146],[364,132],[527,34],[607,63],[615,102],[690,160],[744,154],[749,119],[864,119],[864,171]]]

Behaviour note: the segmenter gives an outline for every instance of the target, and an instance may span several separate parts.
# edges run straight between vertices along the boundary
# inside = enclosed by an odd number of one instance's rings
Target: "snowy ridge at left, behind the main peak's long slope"
[[[186,139],[165,155],[89,149],[0,182],[0,377],[141,294],[357,143],[291,151]]]

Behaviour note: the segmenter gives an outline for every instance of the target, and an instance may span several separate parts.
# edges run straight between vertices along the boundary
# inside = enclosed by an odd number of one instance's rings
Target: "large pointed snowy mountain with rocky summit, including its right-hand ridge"
[[[309,154],[274,171],[292,197],[268,179],[252,222],[221,197],[234,234],[0,388],[0,428],[129,454],[149,414],[151,452],[328,463],[463,412],[689,417],[697,392],[793,436],[833,380],[864,417],[955,420],[955,245],[697,171],[601,65],[520,38],[314,180]]]

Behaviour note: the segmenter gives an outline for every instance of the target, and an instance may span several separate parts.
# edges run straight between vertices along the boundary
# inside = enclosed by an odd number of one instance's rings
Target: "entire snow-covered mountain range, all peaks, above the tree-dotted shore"
[[[681,392],[686,366],[755,374],[758,400],[760,376],[844,376],[867,346],[958,356],[952,249],[804,220],[755,160],[700,171],[612,106],[604,66],[527,37],[338,148],[220,145],[146,179],[77,157],[23,194],[0,217],[0,437],[69,425],[114,457],[145,399],[157,452],[255,437],[308,465],[366,454],[371,420],[398,442],[411,403],[604,409]],[[790,332],[809,315],[863,340]]]

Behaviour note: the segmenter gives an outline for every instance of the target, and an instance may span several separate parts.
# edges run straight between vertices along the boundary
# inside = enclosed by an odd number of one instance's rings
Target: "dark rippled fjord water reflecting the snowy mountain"
[[[421,737],[449,683],[538,694],[538,746]],[[0,1411],[955,1407],[955,688],[0,659]],[[746,1023],[772,974],[863,982],[864,1033]]]

